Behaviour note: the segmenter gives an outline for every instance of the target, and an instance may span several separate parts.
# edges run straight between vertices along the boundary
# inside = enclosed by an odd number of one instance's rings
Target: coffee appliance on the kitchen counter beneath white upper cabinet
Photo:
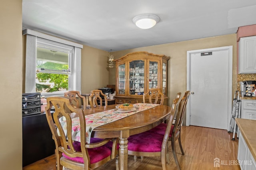
[[[240,82],[240,90],[242,97],[255,97],[256,96],[256,80]]]

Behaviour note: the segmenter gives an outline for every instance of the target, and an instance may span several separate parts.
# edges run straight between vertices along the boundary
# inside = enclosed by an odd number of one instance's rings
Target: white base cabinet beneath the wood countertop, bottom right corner
[[[256,170],[255,160],[241,133],[239,133],[237,159],[241,170]]]

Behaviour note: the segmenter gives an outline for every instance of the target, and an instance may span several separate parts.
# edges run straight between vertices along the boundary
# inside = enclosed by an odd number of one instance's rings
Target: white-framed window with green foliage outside
[[[81,92],[82,45],[32,30],[25,32],[25,93],[40,92],[48,97],[62,96],[67,90]]]

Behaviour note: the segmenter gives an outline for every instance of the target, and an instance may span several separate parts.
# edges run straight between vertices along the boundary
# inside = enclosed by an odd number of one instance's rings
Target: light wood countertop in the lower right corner
[[[236,118],[236,124],[238,125],[254,160],[256,160],[256,120]]]

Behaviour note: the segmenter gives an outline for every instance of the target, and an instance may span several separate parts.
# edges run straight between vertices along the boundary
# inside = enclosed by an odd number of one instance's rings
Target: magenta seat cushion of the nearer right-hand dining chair
[[[128,150],[136,152],[161,152],[163,135],[148,131],[128,138]]]

